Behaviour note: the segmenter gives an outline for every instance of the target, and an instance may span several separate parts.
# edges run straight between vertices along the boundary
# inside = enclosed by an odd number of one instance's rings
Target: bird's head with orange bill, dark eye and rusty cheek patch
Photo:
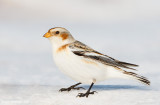
[[[70,32],[62,27],[51,28],[43,37],[48,38],[57,47],[75,41]]]

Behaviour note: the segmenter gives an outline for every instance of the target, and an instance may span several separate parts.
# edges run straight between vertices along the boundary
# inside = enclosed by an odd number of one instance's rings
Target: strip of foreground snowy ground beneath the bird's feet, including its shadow
[[[83,86],[83,85],[82,85]],[[84,86],[88,88],[88,86]],[[60,86],[0,86],[1,105],[159,105],[159,91],[132,85],[97,85],[89,98],[78,92],[60,93]]]

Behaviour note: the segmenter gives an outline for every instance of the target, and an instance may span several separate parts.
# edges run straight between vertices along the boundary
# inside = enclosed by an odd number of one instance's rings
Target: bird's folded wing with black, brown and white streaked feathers
[[[130,66],[134,66],[134,67],[138,66],[136,64],[121,62],[112,57],[101,54],[79,41],[75,41],[74,43],[71,43],[69,45],[69,48],[77,56],[82,56],[87,59],[95,60],[104,65],[109,65],[117,68],[122,67],[122,68],[127,68],[132,70],[136,70],[136,69],[130,68]]]

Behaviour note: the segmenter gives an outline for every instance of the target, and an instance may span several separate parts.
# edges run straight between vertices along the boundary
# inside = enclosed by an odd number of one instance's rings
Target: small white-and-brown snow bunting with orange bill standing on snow
[[[88,47],[87,45],[73,38],[68,30],[62,27],[50,29],[43,37],[48,38],[53,47],[53,58],[59,69],[73,80],[79,82],[69,88],[62,88],[60,91],[70,91],[81,83],[91,84],[86,93],[79,93],[78,97],[88,97],[95,91],[90,91],[94,83],[109,78],[129,78],[150,85],[147,78],[133,72],[123,70],[137,67],[136,64],[116,60],[107,55]],[[83,89],[83,88],[82,88]]]

